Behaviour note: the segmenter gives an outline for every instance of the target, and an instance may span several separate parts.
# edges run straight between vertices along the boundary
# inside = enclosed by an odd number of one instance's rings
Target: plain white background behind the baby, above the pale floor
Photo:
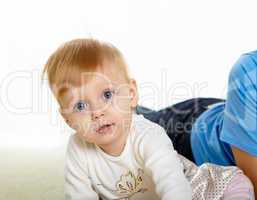
[[[254,0],[10,1],[0,68],[0,146],[54,148],[66,128],[41,72],[61,43],[93,37],[117,46],[140,104],[225,98],[229,70],[257,49]],[[65,133],[65,134],[64,134]]]

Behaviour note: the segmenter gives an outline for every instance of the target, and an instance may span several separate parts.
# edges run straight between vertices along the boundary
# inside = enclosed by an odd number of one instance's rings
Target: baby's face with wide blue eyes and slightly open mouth
[[[70,87],[58,100],[60,112],[70,127],[87,142],[104,146],[117,142],[129,131],[137,105],[136,83],[127,83],[114,70],[103,68],[91,74],[80,87]]]

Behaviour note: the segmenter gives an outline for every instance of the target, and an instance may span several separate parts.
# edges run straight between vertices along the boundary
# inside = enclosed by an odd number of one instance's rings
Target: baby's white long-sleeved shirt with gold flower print
[[[65,168],[65,199],[188,200],[191,187],[165,130],[133,114],[120,156],[70,137]]]

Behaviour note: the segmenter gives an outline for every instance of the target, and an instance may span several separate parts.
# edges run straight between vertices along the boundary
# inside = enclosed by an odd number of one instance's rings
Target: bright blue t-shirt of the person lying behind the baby
[[[234,64],[226,102],[214,104],[196,120],[191,146],[198,165],[235,165],[231,146],[257,157],[257,51]]]

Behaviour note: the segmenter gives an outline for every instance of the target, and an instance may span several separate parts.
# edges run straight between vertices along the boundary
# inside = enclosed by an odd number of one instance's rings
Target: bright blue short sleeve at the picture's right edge
[[[241,56],[230,72],[220,138],[257,156],[257,52]]]

